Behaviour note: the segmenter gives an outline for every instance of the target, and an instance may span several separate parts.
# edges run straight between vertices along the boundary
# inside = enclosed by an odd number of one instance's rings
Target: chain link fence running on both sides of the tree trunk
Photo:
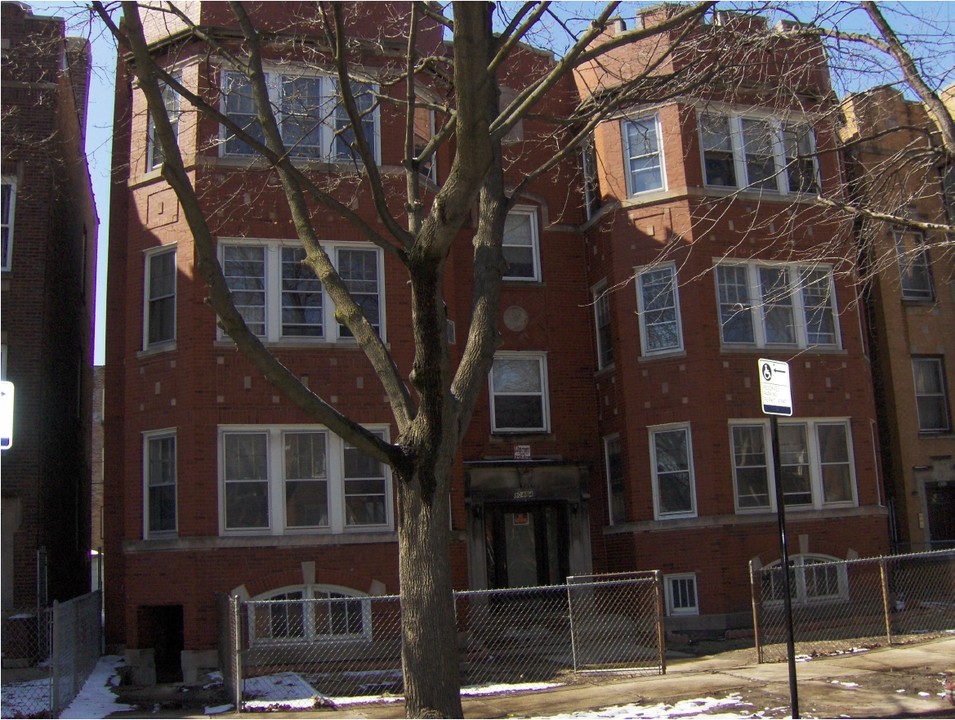
[[[455,593],[464,685],[561,682],[573,673],[665,672],[659,573]],[[319,596],[321,595],[321,596]],[[398,596],[295,591],[223,596],[220,666],[236,707],[293,696],[403,692]],[[303,692],[304,690],[304,692]]]

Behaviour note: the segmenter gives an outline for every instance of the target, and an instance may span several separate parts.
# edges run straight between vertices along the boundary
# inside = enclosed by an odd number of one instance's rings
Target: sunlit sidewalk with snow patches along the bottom
[[[815,658],[797,664],[800,714],[803,717],[955,717],[943,682],[955,680],[955,636],[917,645],[894,646],[858,654]],[[758,665],[755,650],[675,660],[666,675],[629,677],[583,676],[581,682],[533,693],[466,697],[465,717],[552,717],[594,713],[614,706],[673,705],[679,701],[735,695],[734,700],[710,710],[727,715],[782,718],[789,716],[789,673],[786,663]],[[704,715],[692,705],[679,708],[682,717]],[[140,711],[142,712],[142,711]],[[207,717],[202,714],[152,713],[150,717]],[[591,714],[591,717],[595,716]],[[400,702],[347,706],[338,710],[269,713],[282,718],[402,718]],[[613,717],[649,717],[640,709],[619,711]],[[667,717],[667,708],[655,708],[653,717]],[[137,717],[116,713],[111,717]],[[261,717],[260,713],[232,713],[225,717]]]

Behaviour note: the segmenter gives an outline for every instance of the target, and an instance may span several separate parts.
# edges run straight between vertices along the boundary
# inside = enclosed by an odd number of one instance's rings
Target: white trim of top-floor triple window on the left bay
[[[337,76],[331,72],[321,72],[314,68],[306,68],[303,66],[276,66],[271,64],[266,64],[263,68],[265,70],[266,76],[266,87],[269,92],[269,102],[271,103],[273,110],[275,112],[275,120],[279,126],[279,133],[282,132],[282,83],[281,78],[283,76],[293,77],[293,78],[318,78],[320,80],[320,93],[321,93],[321,102],[324,104],[329,103],[329,111],[326,116],[323,118],[322,127],[319,135],[319,142],[321,143],[322,154],[320,157],[305,157],[297,156],[294,153],[292,157],[294,160],[299,162],[323,162],[323,163],[338,163],[338,164],[352,164],[351,158],[339,158],[333,154],[333,148],[335,145],[335,112],[336,105],[332,105],[331,101],[335,98],[334,89],[331,91],[328,88],[328,85],[331,85],[334,88],[334,83],[337,81]],[[244,73],[233,70],[228,67],[220,67],[218,71],[219,78],[219,89],[221,94],[221,99],[219,103],[219,109],[223,115],[227,115],[227,104],[226,97],[226,74],[234,73],[238,75],[244,75]],[[245,76],[248,78],[248,76]],[[372,80],[360,80],[358,78],[351,78],[354,82],[361,82],[368,85],[372,85],[375,88],[375,92],[378,92],[380,86],[377,82]],[[374,154],[375,154],[375,164],[381,165],[381,111],[380,107],[375,107],[372,110],[372,121],[374,122]],[[225,125],[219,125],[219,157],[223,158],[245,158],[256,157],[255,151],[251,153],[230,153],[226,150],[226,143],[229,138],[232,137],[232,133],[226,128]]]

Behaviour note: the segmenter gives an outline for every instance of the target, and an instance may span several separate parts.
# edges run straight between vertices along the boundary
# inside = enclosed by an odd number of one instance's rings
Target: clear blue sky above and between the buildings
[[[87,121],[86,152],[90,163],[90,176],[96,196],[100,218],[99,262],[97,267],[96,330],[94,362],[105,360],[105,308],[106,308],[106,254],[108,247],[109,221],[109,174],[112,143],[113,92],[116,68],[115,43],[102,30],[84,19],[82,3],[30,2],[38,15],[58,15],[68,18],[70,34],[89,37],[93,46],[93,76],[90,88],[89,115]],[[622,3],[620,14],[628,21],[636,16],[641,5],[646,3]],[[880,3],[883,13],[910,44],[924,69],[937,87],[955,82],[955,3],[948,2],[887,2]],[[760,7],[756,3],[727,3],[733,7]],[[597,12],[596,3],[576,2],[564,6],[565,12],[587,17]],[[505,5],[505,12],[507,11]],[[785,4],[788,10],[801,19],[817,13],[838,18],[839,27],[845,30],[864,32],[868,22],[856,3],[793,2]],[[777,14],[775,19],[782,15]],[[860,85],[886,82],[884,74],[856,74],[847,80],[844,87],[837,82],[837,90],[856,90]]]

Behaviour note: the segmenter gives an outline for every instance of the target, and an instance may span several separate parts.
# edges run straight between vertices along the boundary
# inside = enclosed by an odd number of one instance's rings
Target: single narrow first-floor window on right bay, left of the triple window
[[[696,517],[696,481],[689,424],[649,428],[649,433],[655,519]]]

